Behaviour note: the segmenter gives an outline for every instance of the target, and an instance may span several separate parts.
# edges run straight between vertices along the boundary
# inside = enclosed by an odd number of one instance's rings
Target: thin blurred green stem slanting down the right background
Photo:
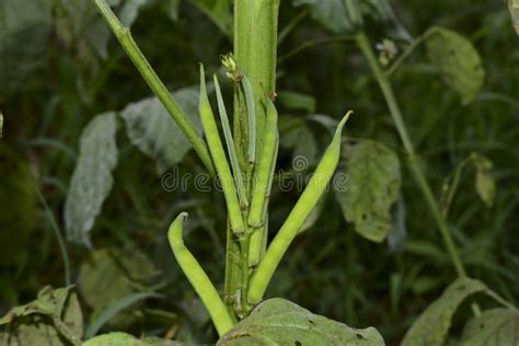
[[[418,184],[418,187],[422,189],[427,205],[429,206],[429,209],[432,212],[432,217],[435,218],[435,221],[438,224],[441,237],[443,238],[443,242],[447,246],[447,251],[449,252],[451,261],[454,265],[455,272],[460,277],[465,277],[466,273],[455,249],[455,244],[447,224],[447,220],[443,218],[438,203],[430,189],[430,186],[427,183],[425,174],[419,166],[418,158],[407,132],[402,112],[400,111],[399,104],[396,103],[396,99],[394,96],[391,83],[387,74],[380,68],[380,65],[377,60],[377,57],[374,56],[373,49],[371,48],[371,45],[366,34],[364,32],[360,32],[357,34],[356,38],[360,50],[362,50],[362,54],[368,60],[371,71],[373,72],[373,76],[377,82],[379,83],[382,94],[384,95],[385,102],[388,103],[388,107],[396,126],[396,130],[399,131],[400,138],[404,145],[411,172],[413,173],[413,176],[416,183]]]

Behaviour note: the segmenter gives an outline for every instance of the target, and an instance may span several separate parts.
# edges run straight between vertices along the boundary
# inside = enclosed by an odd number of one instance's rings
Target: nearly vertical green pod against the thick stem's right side
[[[247,223],[252,228],[260,228],[263,223],[264,209],[270,194],[273,171],[278,151],[277,111],[270,99],[267,99],[267,118],[264,134],[265,139],[254,176],[254,188],[247,219]]]

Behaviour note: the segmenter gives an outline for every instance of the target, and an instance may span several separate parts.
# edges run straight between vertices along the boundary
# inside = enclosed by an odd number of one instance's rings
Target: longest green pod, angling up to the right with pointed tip
[[[256,304],[263,299],[268,282],[270,281],[285,252],[323,195],[326,185],[330,183],[341,157],[341,132],[344,124],[348,120],[350,113],[351,112],[348,112],[339,123],[332,142],[319,162],[308,186],[304,188],[301,197],[296,203],[296,206],[292,211],[290,211],[290,215],[281,226],[279,232],[274,238],[270,246],[268,246],[256,273],[253,274],[247,296],[247,300],[251,304]]]

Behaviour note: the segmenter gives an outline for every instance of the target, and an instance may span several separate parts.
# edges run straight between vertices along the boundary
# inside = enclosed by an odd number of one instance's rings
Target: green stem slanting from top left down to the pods
[[[155,71],[150,66],[150,64],[146,59],[142,51],[139,49],[139,46],[137,46],[137,43],[131,37],[131,33],[129,28],[123,26],[123,24],[114,14],[114,12],[105,2],[105,0],[93,0],[93,2],[97,7],[97,10],[100,11],[100,13],[103,15],[104,20],[108,24],[115,37],[117,37],[117,41],[120,43],[120,45],[125,49],[128,57],[131,59],[136,68],[139,70],[143,80],[150,86],[151,91],[153,91],[157,97],[162,102],[165,109],[173,118],[173,120],[176,123],[176,125],[181,128],[181,130],[191,141],[193,148],[195,149],[197,154],[200,157],[201,161],[204,162],[206,168],[209,170],[209,172],[211,174],[215,174],[212,161],[209,155],[209,151],[207,150],[207,146],[205,141],[198,135],[198,131],[196,130],[195,126],[185,116],[184,112],[175,102],[175,100],[171,95],[168,88],[165,88],[164,83],[157,76]]]

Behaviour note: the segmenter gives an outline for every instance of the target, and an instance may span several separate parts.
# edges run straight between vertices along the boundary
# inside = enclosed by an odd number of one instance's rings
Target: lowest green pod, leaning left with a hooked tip
[[[175,256],[176,262],[178,262],[182,272],[184,272],[191,285],[209,311],[209,315],[218,331],[218,335],[222,336],[233,326],[233,323],[220,295],[218,295],[217,289],[206,272],[204,272],[196,258],[184,245],[182,232],[186,218],[187,212],[182,212],[176,217],[168,231],[168,240],[170,241],[173,255]]]

